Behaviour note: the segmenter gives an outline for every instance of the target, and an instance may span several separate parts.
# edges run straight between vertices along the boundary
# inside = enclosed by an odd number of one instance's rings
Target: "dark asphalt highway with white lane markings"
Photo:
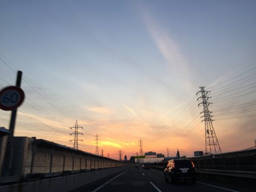
[[[177,182],[171,185],[165,182],[163,172],[154,169],[144,170],[141,167],[132,167],[118,175],[108,178],[105,181],[96,183],[94,186],[79,191],[207,191],[207,192],[228,192],[228,191],[251,191],[236,190],[230,187],[220,187],[205,182],[197,181],[195,185],[190,182]],[[253,191],[253,190],[252,190]]]

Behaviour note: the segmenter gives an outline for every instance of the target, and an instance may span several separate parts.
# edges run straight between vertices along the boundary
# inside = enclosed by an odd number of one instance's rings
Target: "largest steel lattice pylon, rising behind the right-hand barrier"
[[[201,91],[198,91],[196,95],[198,93],[202,94],[202,96],[199,97],[197,100],[202,99],[202,102],[199,103],[198,106],[203,105],[203,108],[204,108],[204,111],[202,111],[200,114],[204,113],[204,115],[202,116],[204,117],[202,122],[204,121],[204,124],[205,124],[205,155],[218,154],[218,153],[221,153],[221,149],[220,149],[219,141],[217,139],[217,135],[215,134],[215,131],[212,125],[212,121],[214,121],[212,119],[213,116],[211,115],[212,111],[209,111],[208,109],[209,105],[212,104],[211,102],[208,101],[211,97],[207,96],[207,94],[210,93],[210,91],[205,91],[204,90],[205,87],[199,87],[199,88],[201,89]]]

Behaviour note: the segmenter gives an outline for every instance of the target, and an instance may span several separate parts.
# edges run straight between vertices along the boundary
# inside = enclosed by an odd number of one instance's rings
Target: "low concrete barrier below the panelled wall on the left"
[[[125,171],[130,167],[118,167],[114,169],[71,174],[67,176],[42,179],[37,181],[17,183],[0,186],[1,192],[66,192],[83,187],[93,181],[108,177],[111,174]]]

